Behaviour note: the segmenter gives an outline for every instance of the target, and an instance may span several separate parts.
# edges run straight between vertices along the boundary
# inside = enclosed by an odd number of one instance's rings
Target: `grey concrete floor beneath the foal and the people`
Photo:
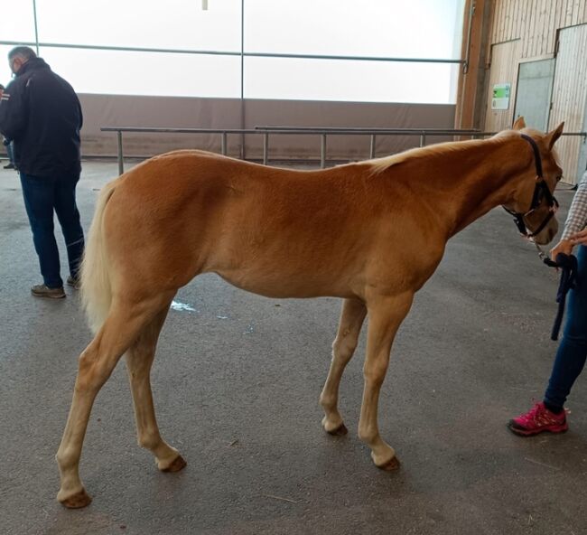
[[[86,229],[115,175],[84,164]],[[563,221],[572,195],[558,193]],[[90,418],[81,476],[94,502],[78,511],[55,501],[53,455],[89,330],[75,292],[29,294],[40,278],[14,172],[0,170],[0,214],[1,533],[587,532],[584,378],[567,434],[505,426],[544,390],[557,277],[504,211],[452,239],[396,338],[379,422],[398,472],[377,470],[356,434],[364,335],[341,384],[349,435],[321,429],[339,301],[269,300],[204,276],[178,294],[193,310],[170,312],[153,372],[162,434],[187,468],[161,474],[136,446],[121,363]]]

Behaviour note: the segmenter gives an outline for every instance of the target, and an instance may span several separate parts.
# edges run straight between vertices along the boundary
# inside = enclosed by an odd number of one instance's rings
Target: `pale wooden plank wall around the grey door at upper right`
[[[566,131],[582,130],[587,96],[587,67],[583,66],[587,61],[587,31],[582,24],[587,23],[587,0],[495,0],[491,18],[485,129],[498,130],[512,124],[520,61],[555,57],[549,127],[564,120]],[[576,28],[564,30],[572,26]],[[497,83],[511,83],[508,109],[491,109],[491,91]],[[581,143],[578,138],[564,138],[557,144],[566,182],[575,183],[582,173]]]

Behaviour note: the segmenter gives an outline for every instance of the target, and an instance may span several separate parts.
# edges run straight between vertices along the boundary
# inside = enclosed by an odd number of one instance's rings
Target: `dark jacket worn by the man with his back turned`
[[[23,64],[0,100],[0,132],[14,141],[14,163],[24,174],[79,174],[82,120],[75,91],[41,58]]]

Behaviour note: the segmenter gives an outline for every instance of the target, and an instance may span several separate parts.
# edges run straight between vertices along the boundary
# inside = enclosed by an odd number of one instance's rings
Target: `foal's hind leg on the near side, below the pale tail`
[[[122,354],[151,323],[163,304],[172,298],[167,297],[144,299],[132,306],[113,303],[106,322],[79,356],[70,415],[56,455],[61,475],[57,499],[66,507],[84,507],[91,502],[79,479],[79,456],[94,399]]]

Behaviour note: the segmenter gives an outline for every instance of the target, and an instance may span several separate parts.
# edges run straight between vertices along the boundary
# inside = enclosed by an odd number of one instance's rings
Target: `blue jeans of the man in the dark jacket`
[[[78,277],[79,262],[84,250],[84,233],[76,206],[76,184],[73,176],[40,177],[21,173],[24,207],[33,230],[34,249],[39,256],[43,282],[50,288],[63,286],[59,249],[53,232],[53,211],[65,238],[70,276]]]

